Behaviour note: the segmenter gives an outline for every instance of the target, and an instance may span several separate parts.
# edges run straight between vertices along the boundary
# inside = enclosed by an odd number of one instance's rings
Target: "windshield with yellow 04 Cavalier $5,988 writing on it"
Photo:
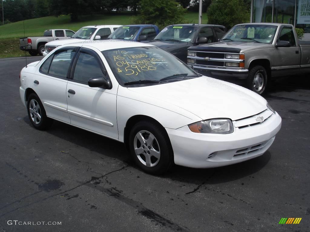
[[[117,81],[127,87],[198,77],[196,72],[174,55],[157,47],[112,49],[102,51],[102,54]]]

